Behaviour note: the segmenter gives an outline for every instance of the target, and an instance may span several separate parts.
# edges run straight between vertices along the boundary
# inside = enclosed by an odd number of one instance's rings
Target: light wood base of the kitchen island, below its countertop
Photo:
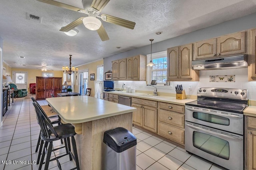
[[[132,112],[82,123],[82,134],[75,135],[81,170],[104,170],[104,132],[116,127],[132,132]]]

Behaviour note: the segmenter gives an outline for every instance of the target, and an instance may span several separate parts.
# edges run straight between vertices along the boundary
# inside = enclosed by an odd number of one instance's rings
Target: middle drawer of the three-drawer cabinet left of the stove
[[[184,128],[184,114],[174,113],[166,110],[158,110],[158,120],[173,126]]]

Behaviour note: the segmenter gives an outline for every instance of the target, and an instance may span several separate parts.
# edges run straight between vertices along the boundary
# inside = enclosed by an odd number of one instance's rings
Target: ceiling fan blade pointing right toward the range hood
[[[117,17],[110,16],[110,15],[107,15],[107,14],[102,14],[101,17],[102,17],[103,21],[106,21],[106,22],[109,22],[109,23],[114,23],[116,25],[120,25],[122,27],[126,27],[126,28],[129,28],[129,29],[134,29],[134,26],[136,24],[135,22],[124,20],[122,18],[117,18]]]

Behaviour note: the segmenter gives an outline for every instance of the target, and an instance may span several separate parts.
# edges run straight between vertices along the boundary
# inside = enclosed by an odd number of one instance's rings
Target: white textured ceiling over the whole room
[[[82,0],[56,0],[83,8]],[[92,0],[86,0],[89,3]],[[101,14],[136,22],[133,30],[102,21],[110,40],[83,24],[69,37],[59,29],[87,16],[37,0],[0,0],[3,59],[12,67],[60,70],[209,27],[256,12],[256,0],[110,0]],[[28,20],[32,14],[41,23]],[[156,31],[163,31],[156,35]],[[120,46],[120,49],[116,47]],[[25,57],[20,59],[19,57]],[[25,66],[24,66],[25,65]]]

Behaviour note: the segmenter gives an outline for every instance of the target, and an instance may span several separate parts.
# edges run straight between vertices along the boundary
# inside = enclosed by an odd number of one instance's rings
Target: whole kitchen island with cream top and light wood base
[[[132,112],[136,108],[90,96],[47,98],[62,122],[75,126],[78,158],[82,170],[104,169],[106,145],[104,131],[124,127],[132,131]]]

